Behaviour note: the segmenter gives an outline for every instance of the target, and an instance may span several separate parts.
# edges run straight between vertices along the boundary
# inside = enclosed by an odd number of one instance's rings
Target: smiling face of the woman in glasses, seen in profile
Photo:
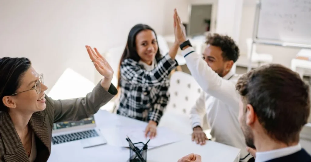
[[[20,87],[16,90],[17,94],[3,98],[3,102],[9,107],[9,110],[34,113],[45,109],[44,91],[48,87],[38,80],[39,74],[30,67],[21,77]],[[37,91],[39,92],[40,89],[41,92],[38,94]]]

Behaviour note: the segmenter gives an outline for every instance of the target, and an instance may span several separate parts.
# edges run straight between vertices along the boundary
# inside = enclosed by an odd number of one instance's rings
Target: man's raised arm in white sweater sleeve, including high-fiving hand
[[[182,44],[187,37],[176,10],[174,11],[174,21],[176,24],[175,37]],[[185,46],[182,55],[186,59],[189,71],[203,91],[228,105],[239,103],[239,94],[235,90],[235,85],[214,72],[192,47]]]

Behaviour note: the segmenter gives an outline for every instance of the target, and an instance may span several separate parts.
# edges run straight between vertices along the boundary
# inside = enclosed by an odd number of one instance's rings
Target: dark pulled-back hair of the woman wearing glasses
[[[30,67],[30,60],[24,57],[0,58],[0,111],[7,111],[7,107],[2,102],[3,97],[16,93],[21,85],[21,78]]]

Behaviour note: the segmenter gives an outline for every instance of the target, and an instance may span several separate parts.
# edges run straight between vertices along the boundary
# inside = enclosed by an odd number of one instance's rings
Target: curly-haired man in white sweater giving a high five
[[[191,111],[192,140],[197,144],[205,144],[207,137],[201,121],[206,114],[215,141],[240,148],[241,161],[253,161],[245,150],[245,138],[238,121],[240,95],[235,84],[239,75],[231,69],[239,57],[238,46],[228,36],[209,35],[202,59],[187,41],[185,33],[179,32],[176,26],[179,24],[175,24],[175,31],[179,33],[175,36],[181,44],[182,55],[192,76],[204,91]]]

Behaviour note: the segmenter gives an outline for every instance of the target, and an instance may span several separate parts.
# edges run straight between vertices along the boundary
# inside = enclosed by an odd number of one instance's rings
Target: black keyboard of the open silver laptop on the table
[[[54,145],[54,144],[76,141],[76,140],[91,138],[91,137],[96,137],[96,136],[98,136],[97,132],[95,131],[95,129],[92,129],[92,130],[87,130],[83,132],[54,136],[52,137],[52,142]]]

